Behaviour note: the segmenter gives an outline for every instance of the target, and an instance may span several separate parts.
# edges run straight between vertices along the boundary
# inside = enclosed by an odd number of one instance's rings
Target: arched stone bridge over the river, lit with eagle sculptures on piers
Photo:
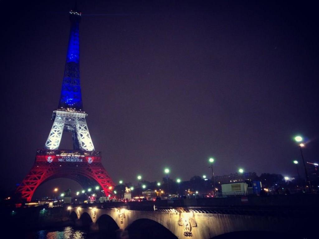
[[[316,238],[319,195],[67,205],[77,226],[119,238]],[[120,234],[120,235],[119,235]]]

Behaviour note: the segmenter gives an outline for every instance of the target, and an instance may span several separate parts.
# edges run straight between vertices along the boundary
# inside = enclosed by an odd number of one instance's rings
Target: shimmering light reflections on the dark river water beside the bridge
[[[62,230],[41,230],[37,231],[34,237],[35,239],[88,239],[84,230],[74,229],[72,227],[65,227]]]

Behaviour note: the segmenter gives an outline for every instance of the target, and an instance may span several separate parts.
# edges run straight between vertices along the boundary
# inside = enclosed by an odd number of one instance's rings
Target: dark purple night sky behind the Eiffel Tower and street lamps
[[[44,147],[63,80],[73,1],[35,2],[0,1],[2,194]],[[215,175],[295,176],[295,134],[319,161],[318,6],[258,2],[78,1],[83,105],[113,181],[210,175],[210,156]]]

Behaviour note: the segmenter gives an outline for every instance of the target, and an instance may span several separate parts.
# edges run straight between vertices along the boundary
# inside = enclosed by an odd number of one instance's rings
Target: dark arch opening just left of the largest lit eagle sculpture
[[[132,239],[177,239],[170,230],[168,230],[165,226],[158,223],[157,221],[151,219],[137,219],[133,221],[129,226],[127,226],[126,230],[129,233],[129,238]]]

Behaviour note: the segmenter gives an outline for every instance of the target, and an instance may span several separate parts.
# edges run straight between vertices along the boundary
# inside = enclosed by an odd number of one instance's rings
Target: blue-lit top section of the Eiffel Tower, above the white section
[[[79,70],[79,24],[81,14],[70,11],[70,37],[66,55],[59,109],[83,111]]]

